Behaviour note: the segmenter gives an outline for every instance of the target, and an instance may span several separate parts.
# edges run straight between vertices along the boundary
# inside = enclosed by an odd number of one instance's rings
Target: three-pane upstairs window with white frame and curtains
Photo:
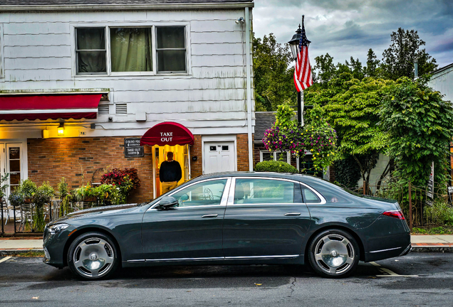
[[[77,75],[187,72],[186,45],[185,26],[76,27],[76,72]]]

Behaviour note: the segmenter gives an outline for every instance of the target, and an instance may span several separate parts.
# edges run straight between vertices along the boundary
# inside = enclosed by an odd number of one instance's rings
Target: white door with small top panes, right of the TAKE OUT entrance
[[[204,142],[204,173],[234,171],[234,141]]]

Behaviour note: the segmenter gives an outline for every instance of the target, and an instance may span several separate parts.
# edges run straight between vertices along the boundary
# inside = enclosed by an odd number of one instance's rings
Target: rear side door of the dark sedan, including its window
[[[225,258],[298,257],[310,224],[297,181],[234,178],[224,217]]]

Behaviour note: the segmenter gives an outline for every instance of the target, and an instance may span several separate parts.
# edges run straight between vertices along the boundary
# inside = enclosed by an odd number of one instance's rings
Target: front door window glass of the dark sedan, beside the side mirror
[[[220,205],[227,179],[203,181],[177,191],[172,196],[178,200],[178,207],[199,205]]]

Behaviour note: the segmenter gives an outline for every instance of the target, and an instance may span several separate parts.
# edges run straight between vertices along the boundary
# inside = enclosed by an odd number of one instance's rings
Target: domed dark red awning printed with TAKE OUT
[[[193,145],[194,135],[182,124],[175,122],[163,122],[150,128],[140,139],[140,146],[143,145]]]

